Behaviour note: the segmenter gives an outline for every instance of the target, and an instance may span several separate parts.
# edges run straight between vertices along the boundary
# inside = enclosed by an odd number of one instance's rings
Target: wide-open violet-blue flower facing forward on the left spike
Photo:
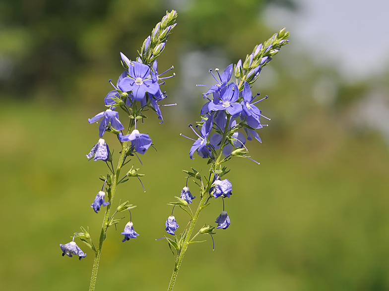
[[[130,77],[123,78],[118,87],[123,92],[132,91],[135,100],[142,100],[146,92],[155,95],[159,91],[158,82],[150,76],[150,68],[138,62],[132,62],[129,68]]]

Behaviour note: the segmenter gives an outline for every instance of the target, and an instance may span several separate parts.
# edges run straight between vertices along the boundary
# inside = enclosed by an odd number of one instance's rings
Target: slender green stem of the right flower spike
[[[226,137],[227,137],[227,133],[228,133],[228,126],[230,124],[230,119],[231,119],[231,115],[228,115],[226,126],[224,128],[223,137],[222,137],[220,148],[219,148],[219,152],[218,152],[218,155],[216,157],[215,162],[212,163],[211,170],[212,169],[216,169],[220,165],[220,157],[222,155],[223,147],[224,147],[224,144],[225,144],[225,141],[226,141]],[[183,247],[182,247],[182,249],[180,251],[180,254],[178,256],[178,260],[177,260],[176,266],[174,268],[174,271],[173,271],[173,274],[172,274],[172,278],[170,279],[168,291],[172,291],[173,288],[174,288],[174,284],[176,283],[178,271],[180,270],[180,267],[181,267],[181,264],[182,264],[182,260],[184,258],[185,252],[187,251],[189,242],[191,241],[192,232],[193,232],[193,229],[195,228],[195,224],[197,222],[198,216],[200,215],[200,212],[203,209],[205,201],[208,198],[208,192],[209,192],[209,189],[211,188],[214,176],[215,176],[214,172],[211,171],[211,176],[209,178],[207,187],[205,188],[204,192],[202,193],[200,203],[198,204],[197,210],[195,212],[195,216],[193,217],[191,225],[189,226],[188,234],[187,234],[187,236],[185,238],[184,245],[183,245]]]

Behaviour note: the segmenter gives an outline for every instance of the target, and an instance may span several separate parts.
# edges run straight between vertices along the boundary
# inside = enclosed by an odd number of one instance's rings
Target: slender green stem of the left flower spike
[[[133,122],[132,122],[132,119],[131,119],[129,128],[127,130],[127,134],[128,135],[131,132],[132,123]],[[112,181],[111,199],[109,199],[110,203],[107,205],[107,208],[105,209],[103,225],[101,226],[99,245],[98,245],[98,247],[96,249],[95,259],[93,261],[92,276],[90,278],[89,291],[94,291],[95,290],[96,279],[97,279],[97,271],[99,269],[99,263],[100,263],[101,248],[103,246],[103,242],[105,241],[105,237],[106,237],[106,234],[107,234],[109,214],[110,214],[112,202],[114,201],[115,192],[116,192],[116,189],[117,189],[117,186],[118,186],[118,179],[119,179],[119,175],[120,175],[120,170],[122,169],[123,160],[124,160],[124,157],[126,155],[127,143],[128,142],[124,142],[122,144],[122,153],[120,154],[118,167],[116,169],[116,172],[115,172],[115,175],[114,175],[114,179]]]

